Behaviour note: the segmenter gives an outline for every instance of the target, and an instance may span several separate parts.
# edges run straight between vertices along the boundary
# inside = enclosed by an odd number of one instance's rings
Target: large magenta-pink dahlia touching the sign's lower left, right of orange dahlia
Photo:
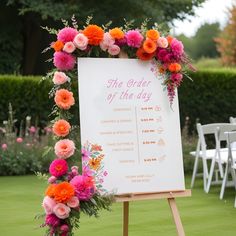
[[[70,184],[75,187],[75,195],[79,200],[87,201],[95,193],[94,181],[91,176],[77,175],[70,181]]]

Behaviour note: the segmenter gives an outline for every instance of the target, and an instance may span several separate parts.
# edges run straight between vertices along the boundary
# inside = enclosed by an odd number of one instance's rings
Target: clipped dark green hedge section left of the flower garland
[[[41,126],[48,123],[52,101],[48,99],[49,83],[40,83],[39,77],[13,75],[0,76],[0,121],[7,120],[8,104],[11,103],[18,125],[26,116],[38,120]]]

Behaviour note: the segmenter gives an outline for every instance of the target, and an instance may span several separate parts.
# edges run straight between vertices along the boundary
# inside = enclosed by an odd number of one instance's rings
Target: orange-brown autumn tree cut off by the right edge
[[[217,49],[221,54],[223,65],[236,65],[236,5],[229,9],[228,24],[216,38]]]

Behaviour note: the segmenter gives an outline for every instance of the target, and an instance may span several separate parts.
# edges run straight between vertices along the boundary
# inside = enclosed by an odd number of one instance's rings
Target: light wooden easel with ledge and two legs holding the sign
[[[185,236],[184,228],[175,202],[176,197],[190,197],[191,190],[164,193],[135,193],[117,195],[116,202],[123,202],[123,236],[129,234],[129,202],[139,200],[167,199],[175,222],[178,236]]]

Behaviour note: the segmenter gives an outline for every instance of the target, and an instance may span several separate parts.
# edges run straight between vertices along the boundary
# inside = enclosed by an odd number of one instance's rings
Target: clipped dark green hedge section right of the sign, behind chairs
[[[194,82],[186,79],[179,89],[182,127],[189,117],[189,132],[196,130],[195,123],[229,122],[236,116],[235,69],[206,69],[190,73]]]

